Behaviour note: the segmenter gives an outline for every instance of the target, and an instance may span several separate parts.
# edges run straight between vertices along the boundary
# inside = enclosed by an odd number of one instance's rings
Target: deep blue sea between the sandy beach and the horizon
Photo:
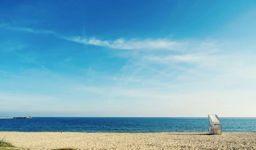
[[[220,118],[223,132],[256,132],[256,118]],[[79,130],[81,129],[81,130]],[[0,119],[0,131],[17,132],[208,132],[208,118]]]

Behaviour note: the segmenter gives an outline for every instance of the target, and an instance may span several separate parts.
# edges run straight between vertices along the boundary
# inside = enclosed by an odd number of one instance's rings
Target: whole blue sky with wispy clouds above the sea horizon
[[[0,116],[255,117],[255,1],[0,1]]]

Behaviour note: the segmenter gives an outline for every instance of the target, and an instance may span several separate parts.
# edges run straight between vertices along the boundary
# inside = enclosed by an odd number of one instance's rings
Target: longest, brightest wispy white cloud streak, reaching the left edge
[[[185,43],[178,42],[175,40],[163,38],[163,39],[130,39],[126,40],[124,38],[116,39],[113,41],[108,40],[99,40],[96,38],[84,39],[80,36],[76,36],[74,38],[67,38],[64,36],[59,36],[57,32],[51,30],[38,30],[32,28],[22,28],[22,27],[12,27],[10,24],[0,24],[0,27],[20,31],[20,32],[30,32],[35,34],[53,34],[56,35],[57,38],[66,39],[70,41],[74,41],[77,43],[82,44],[90,44],[95,46],[101,47],[109,47],[112,49],[125,49],[125,50],[132,50],[132,49],[146,49],[146,50],[171,50],[177,51],[182,50],[184,48]]]

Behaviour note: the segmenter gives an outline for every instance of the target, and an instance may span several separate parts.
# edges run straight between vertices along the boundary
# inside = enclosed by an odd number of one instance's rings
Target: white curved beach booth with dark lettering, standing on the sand
[[[210,122],[209,134],[221,134],[219,117],[216,114],[209,114],[208,118]]]

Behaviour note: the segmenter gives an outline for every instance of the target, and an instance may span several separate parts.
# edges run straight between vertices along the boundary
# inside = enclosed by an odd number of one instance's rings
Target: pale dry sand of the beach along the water
[[[255,149],[256,133],[74,133],[0,132],[16,147],[31,150]]]

